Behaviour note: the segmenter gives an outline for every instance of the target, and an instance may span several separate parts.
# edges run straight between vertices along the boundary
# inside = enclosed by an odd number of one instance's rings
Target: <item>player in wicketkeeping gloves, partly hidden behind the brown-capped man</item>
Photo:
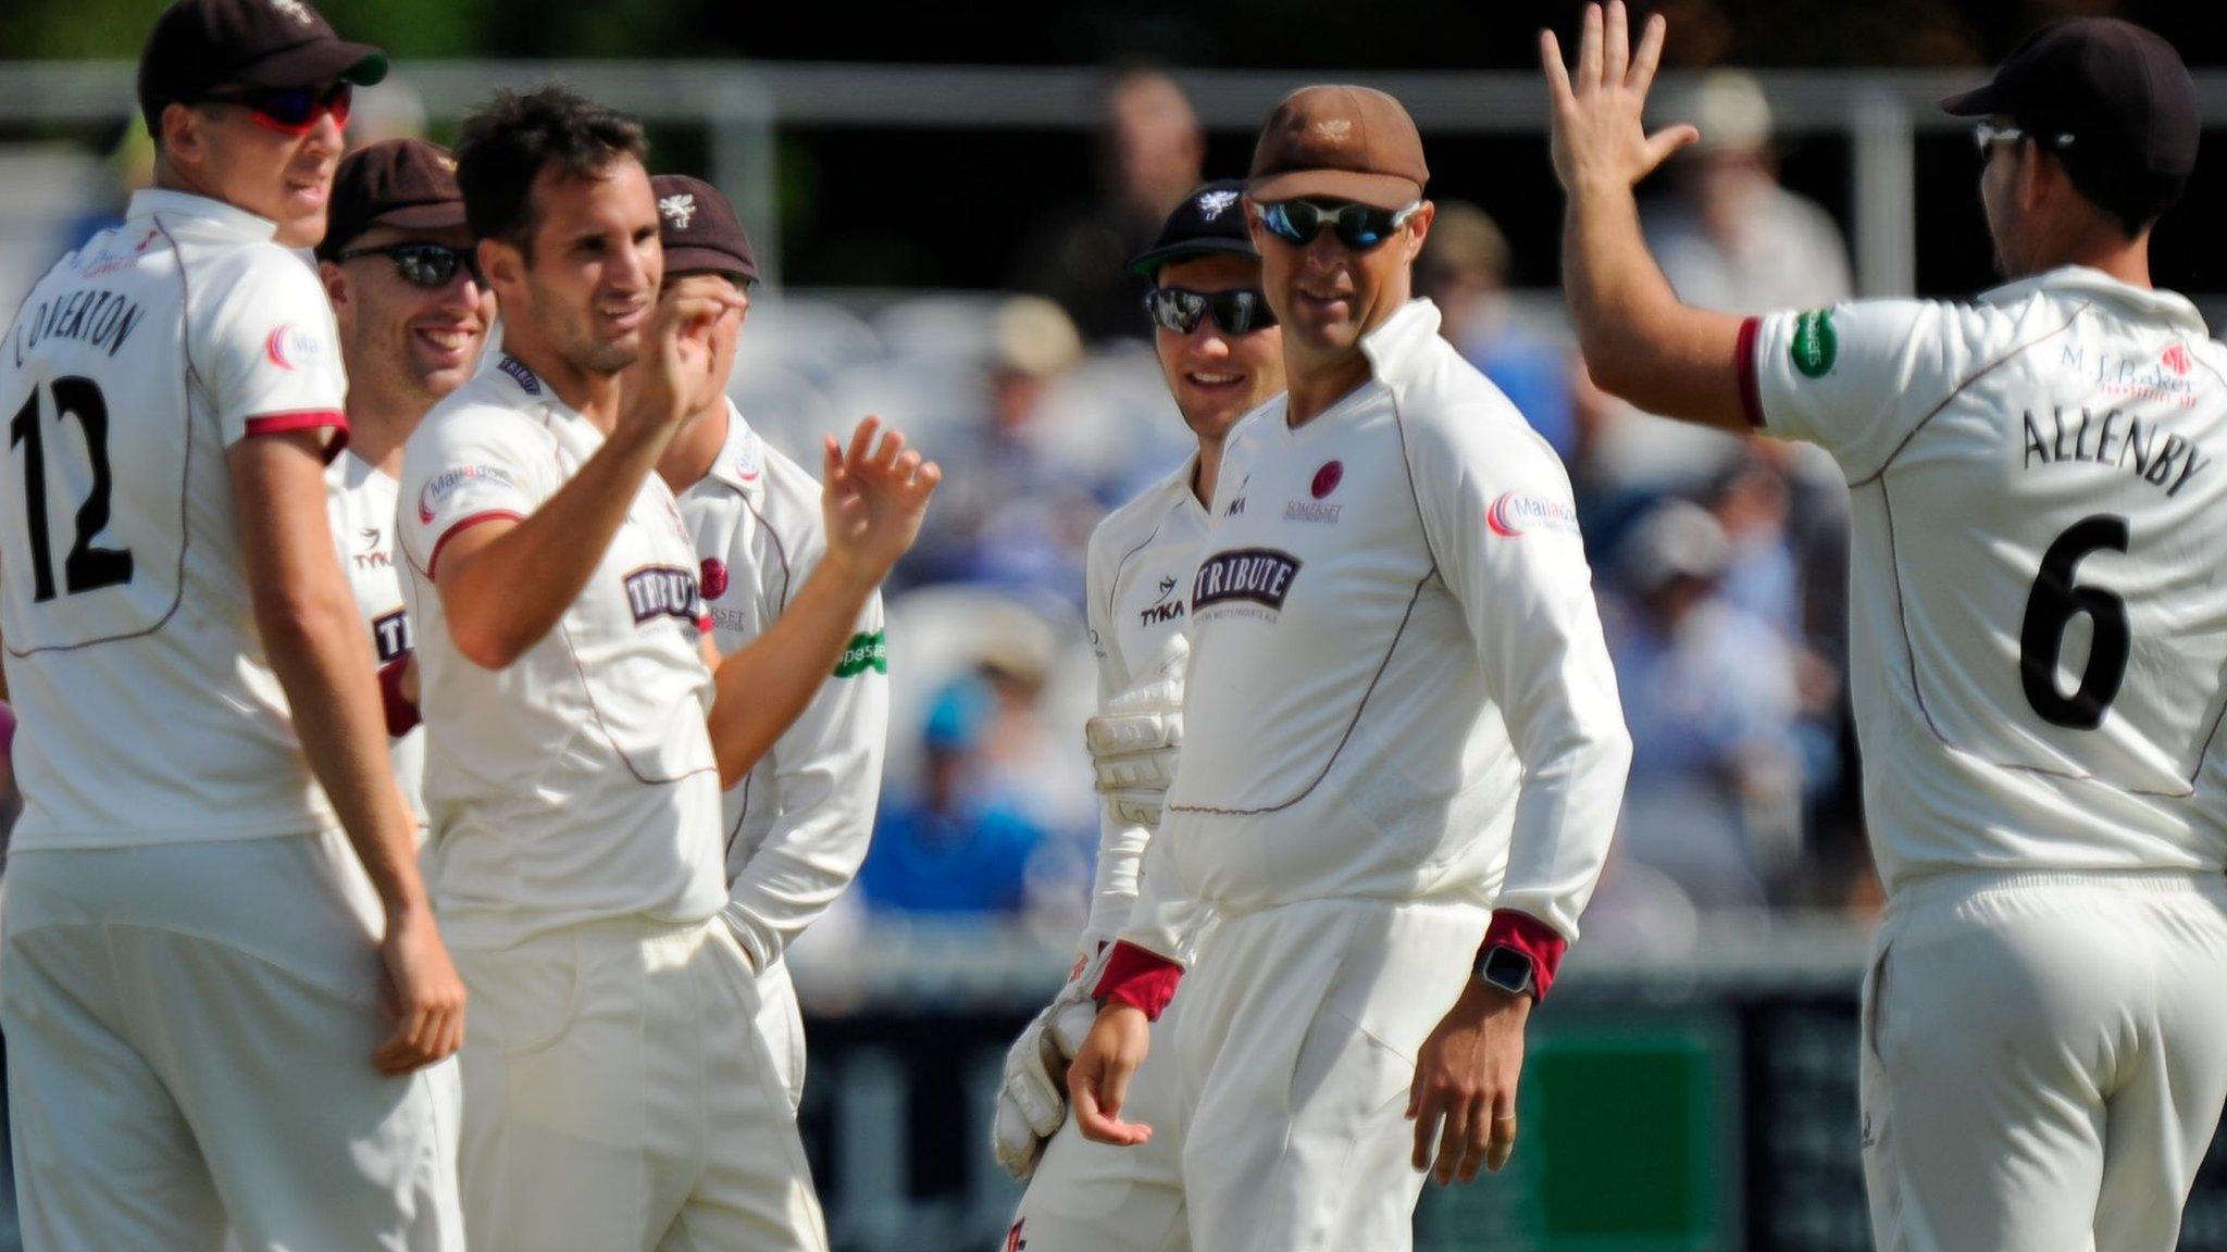
[[[1240,417],[1283,390],[1283,332],[1260,292],[1243,196],[1243,178],[1198,187],[1167,216],[1154,247],[1129,263],[1151,283],[1145,314],[1160,374],[1198,452],[1109,512],[1089,541],[1098,715],[1087,742],[1105,793],[1098,871],[1076,971],[1013,1043],[998,1092],[993,1150],[1016,1178],[1029,1181],[1009,1232],[1016,1245],[1142,1252],[1180,1245],[1185,1234],[1178,1138],[1134,1150],[1091,1143],[1067,1118],[1062,1092],[1067,1063],[1096,1018],[1100,953],[1129,920],[1138,862],[1183,746],[1183,628],[1223,443]],[[1180,1014],[1169,1005],[1162,1029],[1174,1031]],[[1129,1087],[1129,1109],[1165,1118],[1174,1101],[1174,1060],[1154,1054]]]

